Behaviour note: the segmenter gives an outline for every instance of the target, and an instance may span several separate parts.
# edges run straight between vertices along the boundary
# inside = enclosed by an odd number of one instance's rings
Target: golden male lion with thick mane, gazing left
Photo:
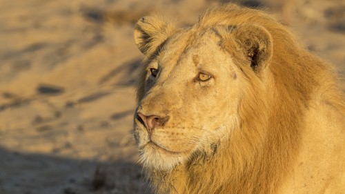
[[[261,10],[226,4],[175,26],[152,14],[134,32],[133,135],[155,193],[344,193],[331,65]]]

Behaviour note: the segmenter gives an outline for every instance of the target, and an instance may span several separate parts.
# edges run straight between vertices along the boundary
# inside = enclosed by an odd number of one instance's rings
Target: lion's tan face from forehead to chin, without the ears
[[[212,151],[237,119],[238,68],[213,30],[193,33],[168,39],[146,67],[135,137],[148,166],[168,170]]]

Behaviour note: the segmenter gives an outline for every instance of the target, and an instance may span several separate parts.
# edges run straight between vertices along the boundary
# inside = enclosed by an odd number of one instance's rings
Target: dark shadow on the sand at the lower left
[[[141,166],[0,148],[1,194],[150,193]]]

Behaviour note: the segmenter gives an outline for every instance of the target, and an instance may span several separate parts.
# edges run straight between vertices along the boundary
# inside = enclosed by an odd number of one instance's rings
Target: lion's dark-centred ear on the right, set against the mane
[[[236,26],[230,31],[240,50],[251,61],[250,67],[257,73],[264,70],[273,55],[270,32],[257,25]]]

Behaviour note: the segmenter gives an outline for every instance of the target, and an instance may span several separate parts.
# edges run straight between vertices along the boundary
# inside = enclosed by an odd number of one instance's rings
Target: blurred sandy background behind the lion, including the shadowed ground
[[[150,193],[130,136],[135,22],[183,26],[227,2],[0,0],[0,194]],[[344,0],[233,2],[276,14],[344,77]]]

